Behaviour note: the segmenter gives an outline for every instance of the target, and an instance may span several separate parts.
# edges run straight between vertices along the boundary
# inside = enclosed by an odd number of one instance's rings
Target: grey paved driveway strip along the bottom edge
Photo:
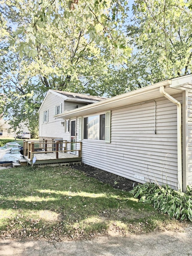
[[[184,232],[152,232],[129,237],[104,236],[92,240],[49,243],[0,240],[1,256],[190,256],[192,226]]]

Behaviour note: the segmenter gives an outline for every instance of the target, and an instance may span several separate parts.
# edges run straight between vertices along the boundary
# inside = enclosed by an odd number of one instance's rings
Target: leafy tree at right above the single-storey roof
[[[134,51],[137,83],[148,85],[191,73],[191,1],[136,0],[133,23],[127,27]],[[133,71],[131,73],[134,74]]]

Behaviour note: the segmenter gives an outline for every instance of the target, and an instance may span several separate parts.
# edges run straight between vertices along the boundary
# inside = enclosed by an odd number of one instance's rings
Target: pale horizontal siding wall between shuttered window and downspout
[[[174,98],[182,103],[182,94]],[[177,107],[164,97],[155,102],[112,110],[111,143],[82,140],[82,162],[140,183],[177,188]]]

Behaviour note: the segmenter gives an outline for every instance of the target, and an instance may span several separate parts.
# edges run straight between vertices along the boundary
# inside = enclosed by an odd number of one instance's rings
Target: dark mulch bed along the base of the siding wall
[[[126,179],[116,174],[100,170],[87,164],[72,165],[71,168],[82,171],[89,177],[98,179],[103,183],[112,185],[113,188],[118,188],[123,191],[131,191],[133,189],[133,185],[138,185],[137,182],[134,182],[130,179]]]

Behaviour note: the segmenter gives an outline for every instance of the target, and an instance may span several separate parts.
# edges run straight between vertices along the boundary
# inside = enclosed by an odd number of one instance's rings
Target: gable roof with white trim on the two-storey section
[[[46,100],[47,96],[50,93],[52,93],[54,95],[58,95],[59,97],[63,98],[64,101],[73,101],[76,103],[85,102],[85,103],[91,104],[91,103],[103,101],[106,99],[104,97],[99,97],[99,96],[92,96],[92,95],[86,95],[86,94],[81,94],[81,93],[64,92],[64,91],[57,91],[57,90],[49,89],[48,92],[46,93],[46,96],[45,96],[43,102],[41,103],[41,106],[40,106],[38,112],[41,110],[41,107],[43,106],[44,101]],[[57,104],[57,103],[55,103],[55,104]]]

